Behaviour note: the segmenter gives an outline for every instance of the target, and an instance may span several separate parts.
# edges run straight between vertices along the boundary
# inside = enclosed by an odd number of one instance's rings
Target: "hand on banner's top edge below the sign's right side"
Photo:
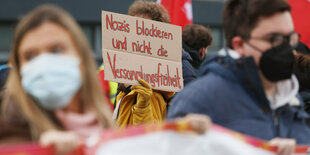
[[[188,114],[185,117],[178,118],[177,121],[188,122],[198,134],[205,133],[212,124],[210,117],[202,114]]]

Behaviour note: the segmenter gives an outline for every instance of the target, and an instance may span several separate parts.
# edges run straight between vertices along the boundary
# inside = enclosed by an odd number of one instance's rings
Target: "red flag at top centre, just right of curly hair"
[[[191,0],[157,0],[169,13],[171,24],[182,26],[193,23]]]

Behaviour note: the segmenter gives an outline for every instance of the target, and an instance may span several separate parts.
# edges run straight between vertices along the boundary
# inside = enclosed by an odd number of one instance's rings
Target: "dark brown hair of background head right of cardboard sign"
[[[186,25],[182,31],[182,39],[186,45],[196,51],[210,46],[213,41],[210,30],[198,24]]]

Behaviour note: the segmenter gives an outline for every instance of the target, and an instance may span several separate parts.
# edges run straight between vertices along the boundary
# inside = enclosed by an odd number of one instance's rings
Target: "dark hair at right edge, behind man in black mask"
[[[294,74],[299,82],[299,91],[310,89],[310,54],[297,52],[295,55]]]

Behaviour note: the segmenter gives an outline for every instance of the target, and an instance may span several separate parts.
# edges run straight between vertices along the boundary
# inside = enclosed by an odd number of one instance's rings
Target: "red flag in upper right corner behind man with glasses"
[[[301,35],[300,41],[310,47],[310,0],[287,0],[292,7],[295,31]]]

